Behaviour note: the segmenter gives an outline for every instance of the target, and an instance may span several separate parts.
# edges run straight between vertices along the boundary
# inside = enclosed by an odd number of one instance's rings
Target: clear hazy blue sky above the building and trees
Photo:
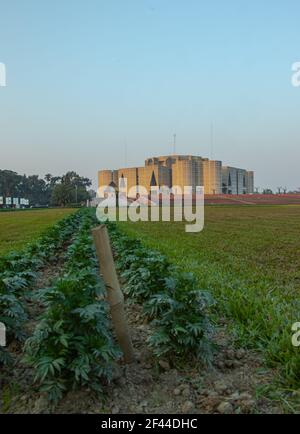
[[[178,153],[300,187],[299,23],[298,0],[0,0],[0,167],[95,179],[176,132]]]

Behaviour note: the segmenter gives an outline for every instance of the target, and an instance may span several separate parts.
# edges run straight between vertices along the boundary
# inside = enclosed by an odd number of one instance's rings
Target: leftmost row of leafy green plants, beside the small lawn
[[[25,340],[27,313],[24,300],[30,297],[38,271],[47,262],[56,260],[57,252],[77,230],[80,219],[79,213],[72,214],[22,251],[0,257],[0,322],[6,326],[8,343],[12,339]],[[11,361],[9,352],[0,347],[0,363]]]

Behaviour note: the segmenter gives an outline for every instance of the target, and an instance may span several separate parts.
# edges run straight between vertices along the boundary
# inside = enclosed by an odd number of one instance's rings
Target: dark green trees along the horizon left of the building
[[[33,206],[65,206],[79,204],[94,194],[88,187],[90,179],[74,171],[62,176],[50,173],[40,178],[39,175],[19,175],[12,170],[0,169],[0,196],[29,199]]]

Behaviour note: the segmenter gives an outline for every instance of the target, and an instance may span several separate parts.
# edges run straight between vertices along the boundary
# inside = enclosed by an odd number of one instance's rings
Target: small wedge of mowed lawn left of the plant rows
[[[0,255],[20,250],[74,209],[0,212]]]

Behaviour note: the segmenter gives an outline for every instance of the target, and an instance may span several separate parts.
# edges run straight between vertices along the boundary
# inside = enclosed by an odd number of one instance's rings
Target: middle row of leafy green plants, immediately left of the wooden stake
[[[90,235],[93,224],[94,217],[87,212],[68,248],[63,276],[39,292],[46,309],[25,345],[25,360],[35,369],[40,390],[52,401],[77,386],[101,392],[120,356],[110,332],[105,288]]]

